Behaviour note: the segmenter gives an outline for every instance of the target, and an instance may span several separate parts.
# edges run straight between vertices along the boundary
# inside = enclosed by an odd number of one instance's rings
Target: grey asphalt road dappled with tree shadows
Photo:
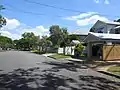
[[[83,64],[9,51],[0,52],[0,90],[120,90],[120,82]]]

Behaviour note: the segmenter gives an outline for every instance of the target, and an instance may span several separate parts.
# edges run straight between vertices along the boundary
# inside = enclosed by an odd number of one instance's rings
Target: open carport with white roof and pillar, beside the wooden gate
[[[119,34],[103,34],[103,33],[92,33],[90,32],[88,36],[85,38],[84,42],[87,43],[87,57],[91,59],[93,57],[93,45],[100,46],[101,55],[97,57],[100,59],[101,57],[105,57],[104,55],[104,46],[116,46],[120,45],[120,35]],[[98,53],[98,52],[96,52]],[[103,55],[104,54],[104,55]],[[107,54],[106,54],[107,55]],[[119,55],[120,56],[120,55]],[[104,59],[104,58],[101,58]]]

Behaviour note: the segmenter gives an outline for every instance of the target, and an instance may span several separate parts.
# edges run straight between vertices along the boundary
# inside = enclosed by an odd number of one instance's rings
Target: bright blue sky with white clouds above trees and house
[[[120,0],[0,0],[6,8],[0,14],[7,20],[0,32],[19,39],[24,32],[49,35],[49,27],[59,25],[68,28],[69,33],[87,33],[97,20],[118,19],[119,3]]]

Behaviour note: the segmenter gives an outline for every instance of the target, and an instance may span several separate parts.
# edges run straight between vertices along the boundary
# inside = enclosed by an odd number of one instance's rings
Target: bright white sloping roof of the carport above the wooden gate
[[[85,42],[94,40],[120,40],[120,34],[107,34],[107,33],[93,33],[89,32],[88,36],[84,39]]]

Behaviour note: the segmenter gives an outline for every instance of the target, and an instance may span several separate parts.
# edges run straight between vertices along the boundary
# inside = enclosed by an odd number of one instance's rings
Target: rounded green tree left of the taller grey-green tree
[[[14,40],[16,49],[19,50],[34,50],[38,47],[38,41],[40,37],[35,36],[33,32],[25,32],[22,34],[22,38]]]

